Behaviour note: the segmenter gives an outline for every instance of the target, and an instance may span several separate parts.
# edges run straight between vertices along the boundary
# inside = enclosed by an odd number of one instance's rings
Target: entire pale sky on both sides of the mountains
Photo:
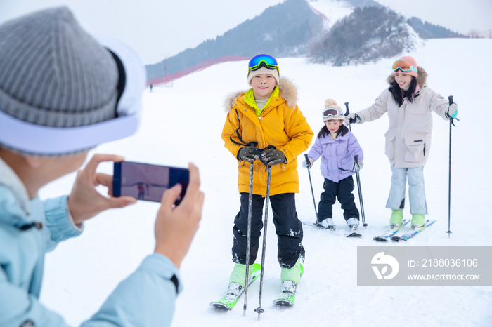
[[[89,32],[136,49],[144,64],[214,39],[284,0],[0,0],[0,23],[67,5]],[[323,1],[323,0],[321,0]],[[492,0],[377,0],[406,15],[467,33],[492,29]],[[452,3],[452,5],[450,4]]]

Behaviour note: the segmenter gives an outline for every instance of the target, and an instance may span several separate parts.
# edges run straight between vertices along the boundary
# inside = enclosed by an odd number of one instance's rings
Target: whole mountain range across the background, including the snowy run
[[[162,84],[218,62],[251,58],[257,53],[357,65],[415,48],[420,37],[453,35],[415,17],[406,20],[373,0],[287,0],[215,39],[145,68],[148,84]]]

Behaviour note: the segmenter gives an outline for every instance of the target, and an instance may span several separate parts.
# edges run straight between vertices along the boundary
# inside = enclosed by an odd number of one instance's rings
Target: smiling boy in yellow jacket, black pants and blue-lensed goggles
[[[267,170],[271,166],[270,201],[278,236],[280,279],[299,283],[301,278],[302,222],[297,218],[294,193],[299,193],[297,156],[311,144],[313,131],[297,107],[297,89],[279,77],[277,60],[257,55],[249,62],[246,92],[232,93],[225,102],[227,119],[222,130],[226,148],[238,159],[241,197],[234,219],[233,261],[229,288],[245,286],[250,164],[254,164],[250,274],[257,258],[262,211],[266,196]],[[250,145],[257,142],[257,147]],[[268,146],[273,145],[269,149]],[[259,149],[265,149],[259,154]],[[259,160],[256,160],[259,159]],[[240,287],[239,287],[240,288]]]

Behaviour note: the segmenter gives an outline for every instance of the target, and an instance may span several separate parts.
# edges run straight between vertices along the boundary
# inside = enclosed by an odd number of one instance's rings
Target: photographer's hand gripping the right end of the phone
[[[202,219],[204,194],[200,191],[200,173],[193,163],[189,164],[188,169],[190,178],[183,201],[179,206],[174,206],[181,195],[180,184],[167,189],[155,220],[155,253],[167,256],[178,268]]]

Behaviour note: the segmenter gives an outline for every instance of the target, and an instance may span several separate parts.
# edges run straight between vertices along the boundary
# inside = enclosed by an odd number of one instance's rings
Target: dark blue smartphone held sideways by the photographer
[[[113,196],[133,196],[138,200],[160,202],[166,189],[181,184],[183,189],[175,202],[178,205],[183,199],[189,180],[190,173],[186,168],[130,161],[115,162],[112,194]]]

